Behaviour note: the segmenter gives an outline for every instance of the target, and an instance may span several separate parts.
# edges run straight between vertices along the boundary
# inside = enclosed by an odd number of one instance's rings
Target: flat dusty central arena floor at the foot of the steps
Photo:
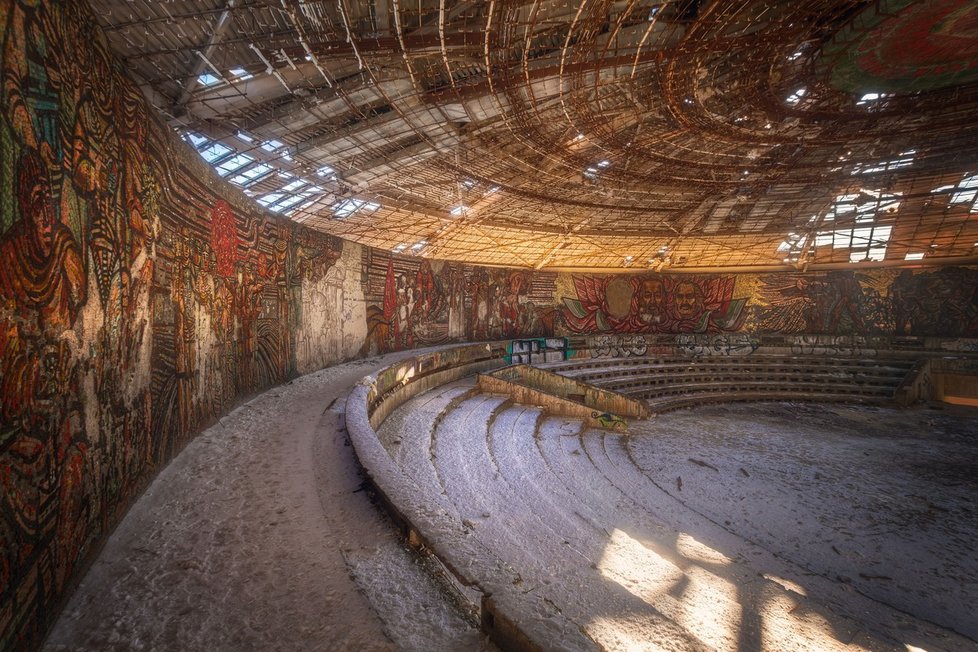
[[[635,434],[629,461],[685,508],[803,574],[978,640],[978,411],[741,405]]]

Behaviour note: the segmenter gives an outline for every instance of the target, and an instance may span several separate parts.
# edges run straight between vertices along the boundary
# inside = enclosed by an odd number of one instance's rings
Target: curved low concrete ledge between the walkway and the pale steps
[[[425,354],[381,370],[361,380],[346,403],[346,425],[354,451],[392,517],[408,540],[429,549],[463,586],[481,593],[477,607],[483,631],[503,650],[597,650],[580,626],[552,604],[515,590],[519,572],[485,548],[457,513],[436,507],[427,494],[391,459],[376,428],[412,396],[478,371],[503,366],[502,357],[472,360],[453,358],[447,349]],[[498,351],[491,347],[490,351]],[[505,352],[504,352],[505,353]],[[454,359],[435,370],[426,356]],[[410,369],[416,372],[411,374]],[[417,370],[430,369],[429,372]],[[400,376],[399,376],[400,374]],[[378,391],[386,384],[386,390]],[[393,379],[393,383],[391,380]]]

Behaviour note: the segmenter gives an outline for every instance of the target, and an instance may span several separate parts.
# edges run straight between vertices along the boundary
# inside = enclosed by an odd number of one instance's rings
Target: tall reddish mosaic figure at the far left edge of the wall
[[[78,359],[63,337],[86,300],[85,272],[78,243],[57,216],[53,171],[29,149],[17,169],[16,221],[0,236],[0,575],[42,555],[60,589],[86,534]],[[15,588],[3,587],[4,594]]]

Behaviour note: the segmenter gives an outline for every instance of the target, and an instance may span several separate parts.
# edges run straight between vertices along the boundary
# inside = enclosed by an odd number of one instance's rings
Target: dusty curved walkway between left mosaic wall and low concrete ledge
[[[46,650],[487,648],[365,490],[343,397],[384,358],[271,390],[160,473]]]

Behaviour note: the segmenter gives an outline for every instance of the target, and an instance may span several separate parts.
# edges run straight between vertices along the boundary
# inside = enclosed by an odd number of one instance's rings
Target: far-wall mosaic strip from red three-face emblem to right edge
[[[557,334],[978,336],[978,269],[557,278]]]

